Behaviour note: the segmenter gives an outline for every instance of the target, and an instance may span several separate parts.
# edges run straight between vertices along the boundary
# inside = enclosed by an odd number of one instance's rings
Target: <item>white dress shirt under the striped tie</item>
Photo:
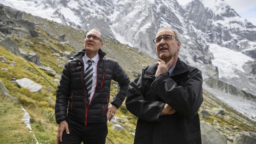
[[[98,61],[100,60],[100,56],[99,54],[97,54],[96,56],[94,56],[93,58],[88,58],[88,56],[86,56],[86,54],[83,56],[83,61],[84,61],[84,72],[86,70],[86,68],[89,66],[89,62],[88,60],[92,60],[92,91],[89,97],[90,102],[92,101],[92,96],[94,94],[95,88],[96,88],[96,80],[97,80],[97,64]]]

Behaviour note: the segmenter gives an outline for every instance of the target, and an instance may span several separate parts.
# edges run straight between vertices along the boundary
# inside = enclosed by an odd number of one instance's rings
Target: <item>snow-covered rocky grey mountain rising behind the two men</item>
[[[0,0],[0,3],[75,28],[99,28],[113,41],[153,57],[156,53],[152,40],[157,30],[163,26],[177,29],[182,60],[200,68],[205,79],[210,67],[218,72],[217,79],[256,96],[256,26],[241,18],[224,0],[192,0],[185,6],[176,0]],[[250,116],[255,118],[256,98],[252,101],[249,109],[254,113]]]

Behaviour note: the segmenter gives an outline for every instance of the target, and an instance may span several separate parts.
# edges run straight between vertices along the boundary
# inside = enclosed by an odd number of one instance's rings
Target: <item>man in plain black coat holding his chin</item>
[[[153,41],[158,62],[142,70],[126,98],[138,117],[134,144],[201,144],[201,71],[178,58],[176,30],[161,28]]]

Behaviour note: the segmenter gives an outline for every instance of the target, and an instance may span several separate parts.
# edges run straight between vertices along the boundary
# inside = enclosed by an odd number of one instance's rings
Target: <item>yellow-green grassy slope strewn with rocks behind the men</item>
[[[72,51],[76,52],[82,48],[82,40],[83,36],[86,33],[82,30],[76,30],[74,28],[63,26],[54,22],[48,22],[48,20],[34,17],[31,15],[27,15],[31,21],[38,23],[37,29],[40,30],[42,33],[39,35],[40,38],[32,38],[32,37],[23,37],[23,36],[16,36],[13,35],[14,38],[21,49],[26,51],[34,51],[40,55],[40,59],[44,66],[52,67],[56,72],[61,72],[62,67],[58,68],[57,65],[63,66],[65,63],[63,60],[60,62],[57,61],[57,57],[53,56],[52,53],[59,52],[59,51]],[[55,36],[60,34],[67,34],[66,39],[69,40],[70,46],[60,44],[56,40]],[[145,54],[138,54],[138,50],[134,50],[124,44],[118,44],[112,42],[110,39],[104,39],[104,51],[107,53],[107,56],[118,60],[122,68],[128,73],[131,79],[134,79],[132,76],[132,71],[141,72],[142,66],[154,64],[155,60]],[[54,106],[46,100],[46,97],[50,96],[53,100],[55,100],[55,90],[51,88],[50,85],[36,73],[33,68],[27,64],[25,60],[22,58],[11,54],[9,51],[5,50],[4,48],[0,47],[0,51],[2,56],[8,59],[7,64],[0,63],[0,68],[8,68],[9,72],[0,71],[0,79],[4,82],[6,88],[10,91],[12,96],[18,98],[21,102],[21,105],[26,108],[31,116],[31,126],[33,129],[33,134],[36,135],[39,143],[48,144],[48,143],[55,143],[55,137],[57,132],[57,124],[55,124],[54,118]],[[15,64],[15,68],[8,65],[12,63],[11,61],[14,60],[18,62]],[[36,68],[38,66],[34,65]],[[26,69],[25,69],[26,68]],[[50,80],[54,86],[57,83],[54,81],[54,77],[47,75],[44,71],[39,70],[42,72],[44,76]],[[16,79],[19,78],[30,78],[35,82],[38,82],[43,86],[43,90],[38,93],[31,93],[24,88],[18,88],[13,83],[11,83],[11,78],[14,77]],[[112,82],[112,84],[116,84]],[[52,89],[53,92],[48,92],[47,89]],[[117,88],[112,86],[111,88],[111,96],[114,96],[116,93]],[[11,108],[6,108],[2,106],[3,104],[0,103],[1,110],[6,111],[6,117],[11,117],[12,115],[7,112],[8,109],[11,109],[14,115],[18,116],[15,119],[10,120],[12,123],[13,129],[15,129],[18,133],[22,136],[19,136],[20,140],[16,140],[14,136],[7,136],[7,135],[0,135],[0,141],[4,141],[6,143],[31,143],[31,134],[26,131],[26,127],[24,126],[21,119],[23,112],[20,108],[20,104],[12,104],[7,103],[11,106]],[[218,120],[220,126],[222,127],[229,127],[229,129],[218,129],[220,132],[232,133],[236,131],[254,131],[253,128],[256,127],[255,122],[252,122],[242,116],[240,113],[236,112],[232,108],[226,106],[207,92],[204,92],[204,102],[202,104],[202,108],[204,109],[211,109],[212,107],[221,107],[226,110],[227,117],[219,117],[211,115],[210,118],[201,118],[202,120],[206,120],[207,122],[213,123],[213,120]],[[2,113],[2,112],[1,112]],[[125,130],[122,132],[116,132],[112,130],[110,127],[112,126],[111,123],[108,123],[108,138],[110,138],[115,144],[120,143],[127,143],[130,144],[133,142],[134,136],[130,132],[135,132],[134,128],[136,126],[136,117],[130,114],[125,108],[123,104],[120,109],[116,112],[116,116],[122,119],[122,115],[128,116],[128,121],[126,123],[130,124],[131,127],[125,126],[124,124],[120,124],[124,126]],[[5,116],[1,115],[1,119]],[[125,119],[122,119],[125,120]],[[22,125],[23,124],[23,125]],[[5,133],[11,133],[12,128],[7,127],[8,124],[4,124],[1,127],[2,131]],[[17,127],[18,126],[18,127]],[[21,128],[23,126],[23,129]],[[215,126],[215,125],[214,125]],[[234,129],[233,126],[239,126],[239,129]],[[18,129],[19,128],[19,129]],[[28,130],[28,129],[27,129]],[[2,134],[2,132],[1,132]],[[33,142],[32,142],[33,143]],[[108,140],[106,140],[107,144],[110,144]]]

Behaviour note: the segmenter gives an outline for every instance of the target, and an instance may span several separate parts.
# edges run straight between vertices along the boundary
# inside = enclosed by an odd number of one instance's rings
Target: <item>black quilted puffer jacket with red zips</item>
[[[101,49],[98,54],[100,60],[97,64],[97,82],[92,101],[86,97],[84,82],[84,56],[81,50],[65,64],[58,90],[56,91],[55,117],[59,124],[67,118],[76,122],[100,123],[107,122],[106,112],[110,97],[110,82],[118,82],[118,92],[111,104],[119,108],[124,101],[130,78],[119,66],[118,62],[106,58],[106,53]],[[68,112],[67,112],[68,111]],[[68,114],[67,114],[68,113]]]

